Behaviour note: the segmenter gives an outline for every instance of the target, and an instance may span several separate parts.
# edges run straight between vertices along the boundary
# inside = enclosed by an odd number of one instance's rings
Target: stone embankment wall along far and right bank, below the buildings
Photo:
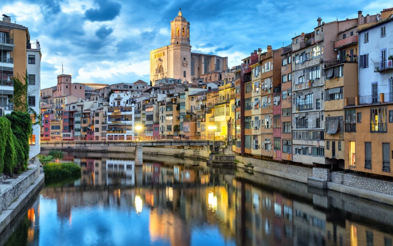
[[[62,150],[62,151],[81,151],[80,148],[72,148],[69,146],[45,146],[41,145],[41,149],[45,150]],[[85,150],[83,150],[85,151]],[[103,152],[103,150],[89,150]],[[108,152],[126,152],[135,153],[135,148],[119,148],[117,150],[104,150]],[[208,161],[210,151],[207,147],[184,148],[160,148],[160,147],[143,147],[143,154],[149,155],[167,155],[179,158],[195,158]],[[261,160],[241,155],[234,155],[235,160],[225,165],[235,166],[247,170],[249,173],[263,173],[287,180],[292,180],[307,184],[309,187],[325,190],[334,190],[340,193],[353,195],[388,205],[393,205],[393,182],[387,180],[379,180],[375,178],[364,177],[348,172],[332,172],[326,168],[316,168],[305,165],[283,164],[280,162]]]

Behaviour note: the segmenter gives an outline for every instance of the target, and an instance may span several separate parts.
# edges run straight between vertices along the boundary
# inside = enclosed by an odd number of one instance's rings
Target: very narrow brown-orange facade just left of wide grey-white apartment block
[[[292,161],[292,44],[281,52],[281,160]]]

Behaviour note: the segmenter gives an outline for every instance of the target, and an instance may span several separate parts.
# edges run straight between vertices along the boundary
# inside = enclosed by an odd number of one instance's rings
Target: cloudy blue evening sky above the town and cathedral
[[[149,83],[149,52],[170,44],[181,7],[193,52],[241,63],[253,50],[278,49],[324,22],[376,14],[391,0],[1,0],[0,14],[24,25],[41,45],[41,88],[56,76],[78,83]]]

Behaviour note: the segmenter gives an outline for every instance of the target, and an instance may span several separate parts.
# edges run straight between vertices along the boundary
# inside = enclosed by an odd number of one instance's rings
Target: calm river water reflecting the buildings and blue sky
[[[45,153],[44,153],[45,154]],[[65,153],[82,167],[45,184],[0,245],[392,246],[393,207],[168,156]]]

